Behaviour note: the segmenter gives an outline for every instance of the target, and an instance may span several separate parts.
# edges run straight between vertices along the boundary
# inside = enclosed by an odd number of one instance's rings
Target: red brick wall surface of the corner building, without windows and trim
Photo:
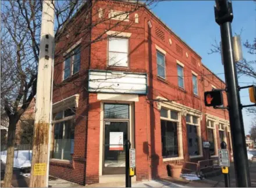
[[[93,21],[98,20],[97,10],[99,8],[106,8],[106,10],[130,10],[133,7],[123,2],[109,4],[106,1],[99,1],[93,9]],[[189,46],[184,44],[172,31],[163,26],[161,21],[150,12],[145,9],[140,9],[136,13],[138,13],[139,23],[131,24],[134,18],[134,13],[131,13],[130,21],[127,23],[123,22],[118,27],[111,28],[115,26],[117,21],[110,20],[98,24],[97,27],[94,27],[91,31],[91,40],[94,40],[99,34],[104,33],[104,31],[109,30],[109,28],[115,31],[130,32],[129,68],[107,67],[108,42],[106,40],[106,34],[102,35],[102,40],[91,44],[91,50],[90,48],[86,48],[81,51],[80,72],[73,78],[65,81],[65,85],[59,85],[63,83],[63,57],[56,57],[56,59],[58,59],[56,62],[58,63],[55,63],[54,70],[54,80],[56,84],[54,88],[54,103],[76,93],[79,93],[80,97],[76,115],[73,163],[70,165],[68,164],[67,167],[67,164],[63,166],[63,164],[51,162],[51,175],[80,184],[97,183],[99,180],[99,144],[101,144],[99,143],[99,126],[101,104],[100,101],[97,100],[97,93],[90,93],[88,95],[86,91],[87,70],[89,68],[100,70],[123,70],[148,74],[148,95],[139,96],[139,102],[134,103],[137,180],[152,179],[158,176],[162,177],[167,175],[166,165],[168,162],[163,162],[162,160],[160,114],[157,109],[157,103],[147,99],[155,99],[157,96],[162,96],[169,100],[175,100],[175,102],[187,107],[202,111],[202,142],[207,140],[204,113],[209,113],[224,119],[228,118],[227,113],[223,113],[222,110],[214,110],[204,106],[204,91],[211,90],[211,84],[215,85],[217,88],[225,87],[225,85],[202,66],[201,57],[193,52]],[[104,16],[108,15],[105,14]],[[147,22],[149,20],[151,21],[152,28],[148,27]],[[164,41],[157,37],[156,30],[161,30],[163,32],[165,37]],[[79,37],[76,39],[79,39]],[[72,40],[76,41],[76,39]],[[169,44],[169,39],[172,40],[172,45]],[[70,40],[71,39],[61,40],[61,42],[56,45],[56,51],[58,51],[58,49],[67,49],[68,46],[72,46],[71,43],[70,45],[66,45]],[[165,80],[157,77],[156,44],[167,52],[165,56]],[[179,45],[179,48],[182,48],[182,55],[176,51],[176,45]],[[188,57],[186,57],[186,53],[188,54]],[[180,89],[177,84],[176,60],[179,60],[184,64],[184,89]],[[198,96],[195,96],[193,93],[191,70],[198,74]],[[212,76],[201,76],[202,74],[211,74]],[[182,126],[184,159],[189,160],[189,156],[187,156],[186,120],[184,117],[182,118]],[[203,149],[203,154],[203,158],[209,157],[207,150]],[[202,158],[198,158],[197,160],[199,159],[201,160]],[[87,162],[84,162],[84,160]]]

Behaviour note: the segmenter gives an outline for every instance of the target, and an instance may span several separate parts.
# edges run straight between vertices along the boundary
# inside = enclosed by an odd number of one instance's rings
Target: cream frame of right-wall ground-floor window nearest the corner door
[[[168,118],[161,117],[161,120],[166,120],[166,121],[173,121],[177,122],[177,138],[178,138],[178,148],[179,148],[179,157],[169,157],[169,158],[163,158],[163,161],[173,161],[173,160],[183,160],[183,140],[182,140],[182,114],[179,109],[169,106],[168,104],[161,104],[161,108],[168,110]],[[176,111],[178,115],[178,119],[174,120],[170,118],[170,111]],[[162,135],[161,135],[162,138]]]

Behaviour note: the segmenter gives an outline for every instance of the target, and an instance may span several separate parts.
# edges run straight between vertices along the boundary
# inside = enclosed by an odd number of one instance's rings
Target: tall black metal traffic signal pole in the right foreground
[[[233,20],[232,3],[226,0],[215,0],[215,21],[221,27],[223,64],[226,79],[226,92],[229,110],[230,129],[233,140],[234,168],[236,170],[236,186],[250,187],[250,172],[244,135],[243,116],[234,64],[231,22]]]

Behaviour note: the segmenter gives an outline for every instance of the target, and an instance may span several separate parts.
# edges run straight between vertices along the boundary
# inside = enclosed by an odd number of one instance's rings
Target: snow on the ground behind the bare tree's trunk
[[[15,168],[26,168],[31,167],[31,158],[32,158],[32,151],[30,150],[20,150],[15,151],[13,158],[13,167]],[[1,161],[5,164],[6,163],[7,152],[1,151]]]

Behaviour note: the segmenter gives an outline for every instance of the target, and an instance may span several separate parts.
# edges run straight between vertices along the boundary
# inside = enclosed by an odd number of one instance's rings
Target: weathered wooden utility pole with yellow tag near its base
[[[48,186],[54,60],[54,1],[43,1],[30,187]]]

